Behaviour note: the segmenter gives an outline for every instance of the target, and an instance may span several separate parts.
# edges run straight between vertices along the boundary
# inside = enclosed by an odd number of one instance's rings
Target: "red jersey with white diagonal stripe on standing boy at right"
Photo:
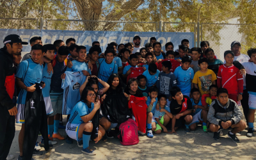
[[[228,94],[243,93],[243,76],[234,65],[227,67],[221,65],[217,76],[218,88],[226,88]]]

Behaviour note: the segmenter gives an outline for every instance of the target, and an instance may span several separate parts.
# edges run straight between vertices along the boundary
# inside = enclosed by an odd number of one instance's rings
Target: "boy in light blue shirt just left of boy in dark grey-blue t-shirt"
[[[143,75],[147,78],[147,83],[146,83],[147,87],[156,85],[156,81],[159,73],[160,71],[157,70],[157,66],[155,63],[150,63],[150,65],[148,65],[148,70],[143,72]]]

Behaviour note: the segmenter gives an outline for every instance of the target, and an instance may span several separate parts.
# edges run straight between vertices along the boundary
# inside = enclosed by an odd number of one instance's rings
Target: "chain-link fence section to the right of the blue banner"
[[[224,60],[224,52],[231,49],[235,40],[241,43],[241,52],[246,54],[256,44],[255,24],[201,24],[201,42],[207,40],[218,59]]]

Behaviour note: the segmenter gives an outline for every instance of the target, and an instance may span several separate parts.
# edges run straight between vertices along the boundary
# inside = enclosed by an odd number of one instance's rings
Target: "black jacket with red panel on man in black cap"
[[[10,96],[14,93],[15,81],[10,82],[6,79],[14,78],[14,73],[13,55],[4,49],[0,49],[0,107],[5,107],[8,110],[14,107]]]

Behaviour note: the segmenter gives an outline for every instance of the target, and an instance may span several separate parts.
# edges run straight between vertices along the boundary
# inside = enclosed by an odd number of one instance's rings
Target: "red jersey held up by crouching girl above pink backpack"
[[[129,109],[132,109],[132,115],[136,118],[138,130],[146,132],[148,106],[145,97],[135,97],[131,95],[128,106]]]

